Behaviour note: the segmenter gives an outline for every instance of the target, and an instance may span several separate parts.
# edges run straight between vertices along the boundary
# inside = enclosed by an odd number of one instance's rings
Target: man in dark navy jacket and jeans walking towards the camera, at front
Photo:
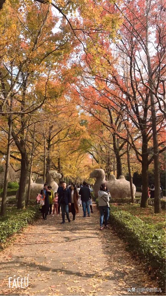
[[[67,189],[65,182],[62,183],[62,187],[58,191],[58,204],[61,205],[61,212],[62,212],[61,224],[65,223],[65,213],[66,213],[67,220],[70,222],[69,205],[71,205],[71,194],[70,194],[70,190]]]

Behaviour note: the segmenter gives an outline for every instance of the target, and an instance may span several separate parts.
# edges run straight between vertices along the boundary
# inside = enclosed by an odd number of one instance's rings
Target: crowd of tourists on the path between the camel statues
[[[53,214],[52,217],[56,214],[59,216],[60,208],[62,215],[61,224],[65,223],[65,215],[68,222],[70,223],[69,213],[72,213],[73,220],[76,218],[76,214],[79,213],[79,206],[83,208],[83,217],[90,217],[90,212],[93,213],[92,209],[92,196],[91,192],[93,189],[85,181],[83,185],[76,185],[74,183],[66,185],[65,182],[60,181],[60,186],[58,187],[57,192],[52,191],[52,187],[48,184],[44,184],[43,189],[40,192],[40,195],[37,195],[36,201],[39,204],[39,209],[42,213],[44,220],[47,220],[47,215],[52,214],[52,205],[53,205]],[[100,230],[103,228],[108,228],[108,218],[109,218],[109,190],[105,184],[101,184],[100,190],[98,192],[99,198],[99,209],[100,209]],[[86,214],[87,213],[87,214]],[[103,218],[105,220],[103,222]],[[104,227],[103,227],[104,223]]]

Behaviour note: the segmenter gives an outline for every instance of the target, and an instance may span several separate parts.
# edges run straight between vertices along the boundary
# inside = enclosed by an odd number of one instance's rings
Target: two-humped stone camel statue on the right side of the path
[[[105,180],[105,172],[103,169],[95,169],[90,173],[90,178],[95,178],[96,182],[93,186],[93,192],[96,198],[98,198],[98,191],[100,185],[105,183],[110,191],[112,198],[126,198],[131,197],[130,182],[127,181],[124,176],[120,176],[116,179],[114,175],[110,175],[108,181]],[[133,184],[133,194],[135,197],[136,186]]]

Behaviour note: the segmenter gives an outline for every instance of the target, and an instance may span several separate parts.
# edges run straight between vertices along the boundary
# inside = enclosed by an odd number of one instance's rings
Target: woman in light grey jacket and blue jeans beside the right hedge
[[[109,218],[109,199],[111,195],[106,191],[105,183],[102,183],[100,186],[100,190],[98,191],[98,199],[99,199],[99,210],[100,210],[100,230],[103,228],[109,228],[107,225],[107,221]],[[104,227],[103,227],[103,218],[105,218]]]

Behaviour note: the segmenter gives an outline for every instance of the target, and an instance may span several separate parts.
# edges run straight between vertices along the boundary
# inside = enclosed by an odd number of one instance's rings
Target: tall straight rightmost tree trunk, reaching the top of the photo
[[[154,174],[155,174],[155,214],[161,213],[161,202],[160,202],[160,170],[159,170],[159,155],[158,155],[158,137],[157,137],[157,120],[155,111],[155,96],[153,94],[153,73],[149,54],[149,5],[146,0],[146,57],[148,63],[149,73],[149,87],[150,87],[150,104],[152,114],[152,133],[153,133],[153,153],[154,153]],[[155,76],[154,76],[155,77]]]

